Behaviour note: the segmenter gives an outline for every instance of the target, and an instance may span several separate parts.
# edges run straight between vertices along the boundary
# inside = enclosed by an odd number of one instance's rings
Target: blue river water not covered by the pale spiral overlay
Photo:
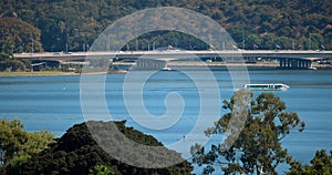
[[[209,81],[199,76],[200,81]],[[212,71],[220,92],[220,102],[234,93],[228,71]],[[181,95],[185,107],[175,126],[163,131],[146,128],[129,117],[123,100],[126,74],[106,76],[107,110],[114,120],[127,120],[127,125],[154,135],[164,144],[178,141],[195,126],[199,114],[199,90],[187,75],[157,72],[143,87],[143,103],[153,115],[166,113],[165,97],[170,92]],[[309,163],[317,150],[332,150],[332,71],[331,70],[250,70],[251,83],[281,82],[288,91],[274,91],[286,102],[288,111],[297,112],[305,122],[302,133],[292,131],[282,145],[297,159]],[[73,124],[84,121],[80,102],[80,75],[0,78],[0,117],[19,119],[27,131],[49,130],[61,136]],[[255,95],[261,93],[255,91]],[[220,107],[220,113],[225,113]],[[287,171],[287,169],[281,169]]]

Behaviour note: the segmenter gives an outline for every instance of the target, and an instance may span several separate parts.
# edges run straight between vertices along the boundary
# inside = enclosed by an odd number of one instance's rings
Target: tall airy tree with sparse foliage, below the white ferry
[[[291,156],[281,147],[281,140],[292,128],[303,131],[304,123],[294,112],[286,111],[286,103],[273,93],[261,93],[256,99],[247,90],[237,91],[230,101],[224,101],[224,109],[228,110],[215,127],[206,131],[207,135],[224,134],[228,137],[224,143],[211,145],[210,151],[204,150],[194,154],[193,162],[205,165],[204,174],[221,166],[225,174],[277,174],[276,167],[283,162],[290,162]],[[237,121],[232,121],[231,117]],[[229,123],[243,127],[229,127]],[[240,126],[239,126],[240,127]],[[238,135],[236,133],[238,131]],[[238,136],[237,140],[235,136]],[[230,141],[235,140],[234,143]],[[201,148],[198,145],[191,150]]]

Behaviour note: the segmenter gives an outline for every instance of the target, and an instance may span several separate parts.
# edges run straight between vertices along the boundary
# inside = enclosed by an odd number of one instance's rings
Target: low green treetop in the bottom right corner
[[[325,150],[317,151],[314,157],[310,161],[311,165],[302,165],[298,161],[290,163],[290,172],[288,175],[317,175],[317,174],[332,174],[332,151],[330,155]]]

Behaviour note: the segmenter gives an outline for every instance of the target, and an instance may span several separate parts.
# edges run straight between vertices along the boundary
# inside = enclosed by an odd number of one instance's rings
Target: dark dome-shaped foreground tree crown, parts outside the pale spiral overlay
[[[125,122],[116,122],[117,128],[128,138],[145,145],[162,146],[153,136],[126,127]],[[107,135],[111,122],[89,122],[89,126]],[[125,145],[124,145],[125,147]],[[179,156],[179,154],[178,154]],[[139,159],[139,157],[137,157]],[[184,161],[178,165],[166,168],[141,168],[124,164],[111,157],[102,150],[85,123],[76,124],[52,145],[49,150],[34,156],[22,168],[23,174],[89,174],[96,166],[106,166],[115,174],[190,174],[193,166]]]

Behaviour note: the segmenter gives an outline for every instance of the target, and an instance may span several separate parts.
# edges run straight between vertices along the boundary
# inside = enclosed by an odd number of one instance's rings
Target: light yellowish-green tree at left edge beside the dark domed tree
[[[34,154],[54,142],[48,131],[29,133],[18,121],[0,120],[0,174],[15,174]]]

